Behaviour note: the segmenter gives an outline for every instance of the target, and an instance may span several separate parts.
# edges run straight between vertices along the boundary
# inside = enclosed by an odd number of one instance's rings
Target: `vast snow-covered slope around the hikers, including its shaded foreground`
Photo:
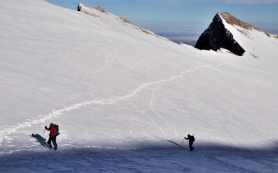
[[[223,20],[246,51],[238,57],[96,8],[0,6],[0,172],[278,169],[277,38]],[[50,122],[60,127],[57,152],[41,137]],[[187,134],[193,153],[177,145]]]

